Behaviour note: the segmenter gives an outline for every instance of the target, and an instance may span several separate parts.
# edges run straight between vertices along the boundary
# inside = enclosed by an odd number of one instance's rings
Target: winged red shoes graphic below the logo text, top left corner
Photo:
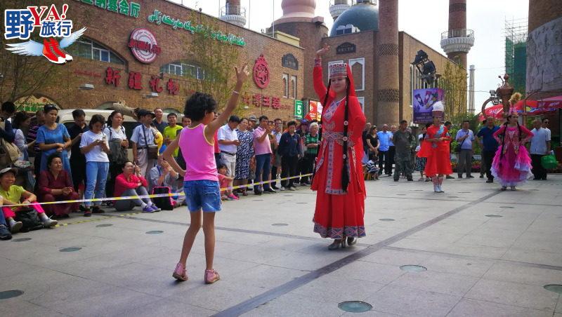
[[[10,46],[6,50],[10,50],[14,54],[27,55],[27,56],[41,56],[43,55],[49,62],[58,65],[63,65],[66,62],[72,61],[72,56],[65,52],[63,48],[71,46],[72,43],[77,41],[82,34],[86,31],[86,27],[79,29],[77,32],[70,34],[60,40],[60,43],[54,38],[45,38],[43,43],[30,40],[23,43],[7,44]]]

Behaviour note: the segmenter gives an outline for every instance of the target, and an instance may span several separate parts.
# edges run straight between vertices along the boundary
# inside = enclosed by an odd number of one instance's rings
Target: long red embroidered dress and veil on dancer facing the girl
[[[341,170],[344,166],[344,110],[346,100],[334,100],[336,93],[329,90],[327,106],[322,111],[322,143],[316,162],[315,176],[311,188],[316,191],[314,232],[322,238],[341,239],[365,236],[365,180],[361,159],[363,145],[361,133],[365,127],[365,114],[355,96],[353,76],[348,96],[348,163],[349,184],[347,191],[341,189]],[[322,82],[322,66],[316,61],[314,88],[320,100],[324,100],[326,86]]]

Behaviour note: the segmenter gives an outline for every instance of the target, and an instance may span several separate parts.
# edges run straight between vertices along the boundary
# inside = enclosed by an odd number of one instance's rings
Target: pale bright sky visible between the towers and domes
[[[170,0],[181,3],[182,0]],[[241,0],[247,8],[247,27],[260,32],[280,18],[282,0]],[[384,1],[384,0],[379,0]],[[475,43],[468,56],[469,65],[476,67],[474,76],[475,102],[477,109],[490,97],[501,81],[497,78],[505,72],[504,29],[505,20],[528,18],[528,0],[470,0],[467,1],[466,27],[473,29]],[[183,0],[190,8],[202,8],[204,13],[218,16],[219,8],[226,0]],[[423,4],[423,5],[421,5]],[[447,31],[448,0],[399,0],[398,29],[407,32],[438,52],[445,53],[440,46],[440,34]],[[430,6],[431,5],[431,6]],[[316,15],[324,17],[327,27],[332,27],[329,15],[329,0],[316,1]],[[439,69],[437,69],[439,73]]]

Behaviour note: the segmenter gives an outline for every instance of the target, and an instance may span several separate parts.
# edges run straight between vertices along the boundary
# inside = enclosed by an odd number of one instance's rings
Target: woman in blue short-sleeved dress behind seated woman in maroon
[[[63,158],[63,168],[70,174],[70,161],[68,161],[67,149],[72,145],[70,135],[64,124],[56,122],[58,109],[53,104],[45,104],[43,109],[45,124],[37,130],[37,144],[41,149],[40,171],[47,170],[47,158],[53,153],[60,154]]]

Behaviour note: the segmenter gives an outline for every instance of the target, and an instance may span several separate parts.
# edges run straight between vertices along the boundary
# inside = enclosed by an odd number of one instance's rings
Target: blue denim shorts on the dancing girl
[[[183,182],[183,191],[190,213],[221,211],[221,191],[216,180],[189,180]]]

